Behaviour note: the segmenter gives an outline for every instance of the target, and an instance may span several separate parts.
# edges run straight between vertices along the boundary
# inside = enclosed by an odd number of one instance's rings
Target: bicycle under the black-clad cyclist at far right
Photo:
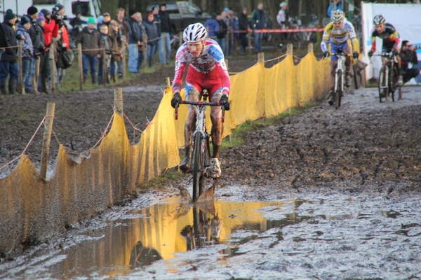
[[[396,85],[398,82],[398,62],[396,55],[393,52],[382,52],[381,55],[373,55],[382,57],[382,68],[379,72],[379,100],[382,103],[382,98],[388,101],[389,95],[392,97],[394,102],[394,93],[396,90],[399,91],[399,99],[402,99],[401,86]]]

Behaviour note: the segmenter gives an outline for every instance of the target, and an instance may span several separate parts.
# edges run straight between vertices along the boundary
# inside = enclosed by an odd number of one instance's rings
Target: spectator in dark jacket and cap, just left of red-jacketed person
[[[32,94],[39,94],[39,91],[32,86],[35,76],[36,61],[44,54],[44,34],[41,27],[36,24],[38,20],[38,9],[30,6],[27,10],[27,17],[31,20],[31,28],[29,29],[29,36],[31,36],[32,45],[34,46],[34,57],[32,57],[31,64],[29,65],[28,78],[25,82],[25,92]],[[37,78],[37,77],[36,77]]]

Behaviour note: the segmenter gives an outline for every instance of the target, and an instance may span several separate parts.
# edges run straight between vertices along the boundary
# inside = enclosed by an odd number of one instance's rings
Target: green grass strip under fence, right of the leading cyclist
[[[226,137],[224,141],[222,141],[221,148],[231,148],[234,146],[241,146],[244,144],[243,141],[243,134],[251,131],[262,130],[265,127],[269,127],[271,125],[277,125],[280,123],[282,118],[286,118],[288,116],[294,116],[301,113],[302,110],[319,105],[319,101],[310,101],[302,104],[300,107],[290,108],[286,111],[283,111],[278,116],[274,118],[260,118],[258,120],[247,120],[246,123],[243,123],[236,127],[235,130],[232,130],[231,137]]]

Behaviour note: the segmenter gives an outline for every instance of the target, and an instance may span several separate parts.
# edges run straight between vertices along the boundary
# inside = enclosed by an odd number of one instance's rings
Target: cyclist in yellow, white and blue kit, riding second
[[[344,12],[342,10],[335,10],[331,16],[332,22],[326,25],[323,38],[321,41],[321,51],[323,52],[323,57],[327,58],[332,53],[340,53],[341,50],[345,55],[353,53],[354,58],[357,58],[359,55],[359,42],[356,38],[354,31],[354,26],[351,22],[348,22],[345,18]],[[330,45],[330,51],[328,50]],[[335,85],[335,69],[336,64],[338,63],[338,57],[333,56],[330,60],[330,97],[329,104],[333,105],[333,87]],[[351,76],[349,74],[349,69],[351,69],[352,57],[347,57],[345,60],[345,86],[349,87],[351,85]]]

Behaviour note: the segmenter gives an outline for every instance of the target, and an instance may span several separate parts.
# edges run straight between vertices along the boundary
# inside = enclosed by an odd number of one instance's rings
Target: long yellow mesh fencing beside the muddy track
[[[328,92],[328,64],[312,53],[294,66],[287,56],[265,69],[264,63],[231,76],[232,109],[226,112],[224,135],[246,120],[270,118]],[[128,141],[123,118],[114,113],[112,127],[89,158],[77,162],[60,146],[53,175],[44,181],[25,155],[0,179],[0,250],[8,252],[25,241],[43,240],[65,225],[89,218],[123,200],[136,184],[159,176],[180,163],[187,106],[174,120],[171,90],[137,145]],[[182,94],[183,96],[184,94]],[[209,114],[208,114],[209,115]],[[207,125],[210,129],[210,120]]]

